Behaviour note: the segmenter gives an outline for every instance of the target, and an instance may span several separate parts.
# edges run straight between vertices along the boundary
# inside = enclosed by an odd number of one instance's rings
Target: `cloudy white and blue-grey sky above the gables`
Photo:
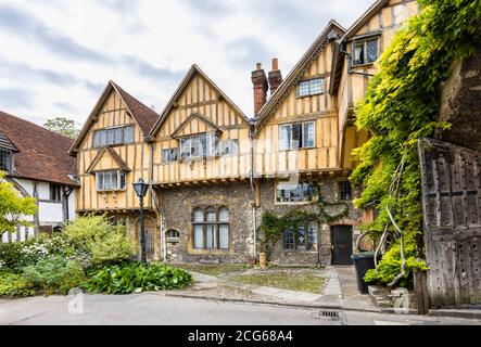
[[[330,18],[374,0],[0,0],[0,110],[80,126],[109,79],[161,112],[197,63],[252,114],[251,70],[286,76]]]

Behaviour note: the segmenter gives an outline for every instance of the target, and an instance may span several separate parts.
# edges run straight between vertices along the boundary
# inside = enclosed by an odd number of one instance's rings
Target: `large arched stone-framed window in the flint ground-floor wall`
[[[201,217],[202,214],[202,217]],[[230,214],[227,207],[197,207],[193,210],[193,247],[197,249],[229,249]]]

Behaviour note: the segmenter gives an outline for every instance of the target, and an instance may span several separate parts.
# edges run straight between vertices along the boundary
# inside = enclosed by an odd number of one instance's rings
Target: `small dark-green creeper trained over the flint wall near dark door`
[[[329,223],[334,220],[342,219],[347,216],[350,205],[347,202],[327,202],[320,194],[320,188],[317,183],[314,191],[316,197],[313,198],[311,205],[317,207],[317,211],[306,211],[305,205],[295,207],[286,214],[275,214],[271,210],[266,210],[262,215],[261,226],[258,227],[260,245],[261,248],[269,256],[270,250],[282,236],[287,229],[292,229],[294,236],[298,233],[299,227],[307,226],[311,222]],[[326,207],[342,206],[342,209],[337,214],[329,214]]]

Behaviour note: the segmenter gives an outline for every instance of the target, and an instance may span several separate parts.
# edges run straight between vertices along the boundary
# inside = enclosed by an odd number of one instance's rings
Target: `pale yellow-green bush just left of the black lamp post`
[[[136,250],[127,226],[112,226],[104,215],[78,217],[66,226],[65,234],[78,247],[89,249],[93,265],[122,262]]]

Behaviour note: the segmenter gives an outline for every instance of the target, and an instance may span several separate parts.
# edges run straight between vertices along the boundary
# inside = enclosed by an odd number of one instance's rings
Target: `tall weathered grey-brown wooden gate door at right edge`
[[[481,304],[481,153],[420,139],[431,306]]]

